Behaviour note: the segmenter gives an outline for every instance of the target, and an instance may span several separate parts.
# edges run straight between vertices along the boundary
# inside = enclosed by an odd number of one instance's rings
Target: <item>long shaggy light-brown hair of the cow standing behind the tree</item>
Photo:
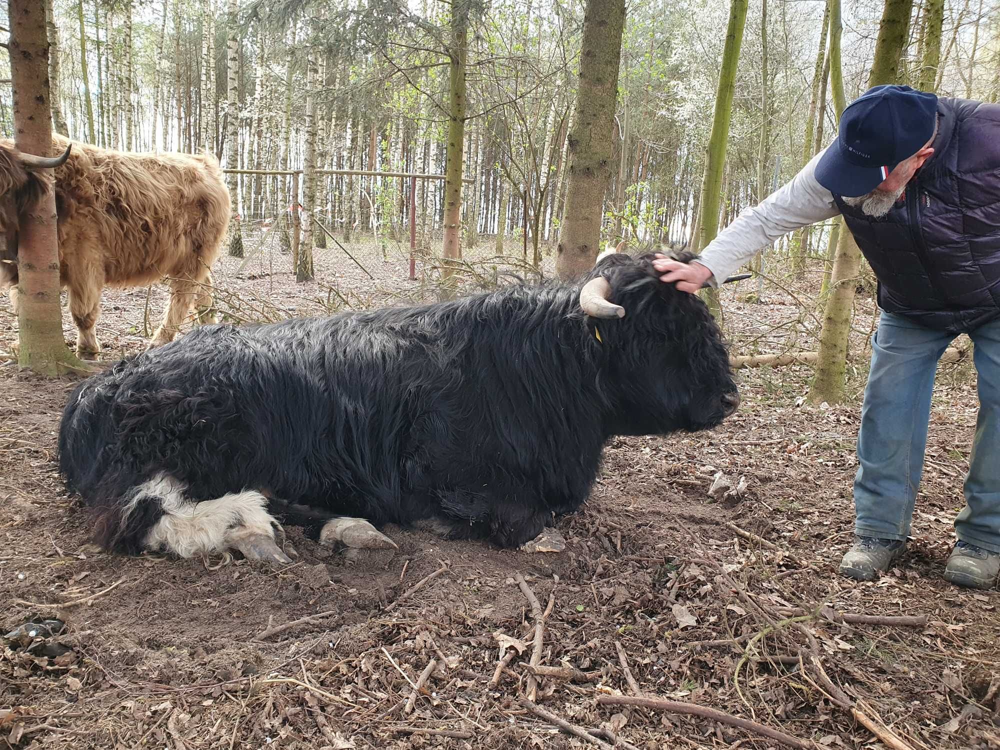
[[[209,269],[226,235],[229,191],[219,163],[209,154],[127,153],[56,134],[47,155],[60,155],[71,143],[69,159],[52,171],[60,280],[69,287],[73,317],[78,327],[92,327],[104,286],[169,279],[171,308],[154,337],[164,343],[190,305],[205,298]],[[5,257],[13,252],[12,260],[17,245],[15,235],[10,247],[10,228],[31,198],[25,190],[37,174],[24,170],[11,140],[0,141],[0,213],[6,222]],[[0,285],[16,283],[16,265],[12,272],[11,264],[3,265],[7,272]],[[167,327],[172,330],[164,334]]]

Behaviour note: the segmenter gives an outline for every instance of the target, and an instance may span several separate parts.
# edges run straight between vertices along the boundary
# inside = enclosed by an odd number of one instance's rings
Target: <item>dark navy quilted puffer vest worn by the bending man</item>
[[[879,282],[879,306],[963,333],[1000,318],[1000,105],[938,100],[934,155],[888,214],[834,196]]]

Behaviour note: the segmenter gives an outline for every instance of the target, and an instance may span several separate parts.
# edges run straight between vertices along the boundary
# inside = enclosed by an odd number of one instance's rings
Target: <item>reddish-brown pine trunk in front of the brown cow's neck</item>
[[[45,7],[37,0],[9,0],[14,145],[24,153],[49,156],[52,110],[49,41]],[[18,232],[18,364],[44,375],[81,371],[66,348],[59,303],[59,244],[51,174],[41,202],[20,216]]]

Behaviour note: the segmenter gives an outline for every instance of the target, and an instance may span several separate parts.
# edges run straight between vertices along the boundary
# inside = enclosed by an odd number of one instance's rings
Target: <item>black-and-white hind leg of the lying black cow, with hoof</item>
[[[290,563],[279,547],[284,534],[267,506],[267,498],[253,490],[194,502],[183,485],[159,476],[135,489],[106,541],[179,557],[235,549],[251,560]]]

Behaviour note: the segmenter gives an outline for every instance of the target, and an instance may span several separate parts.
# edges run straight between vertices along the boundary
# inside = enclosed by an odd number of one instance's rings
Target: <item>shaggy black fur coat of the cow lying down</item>
[[[195,500],[256,489],[285,511],[444,518],[519,545],[587,498],[613,435],[709,429],[732,409],[714,319],[651,259],[591,272],[622,319],[588,318],[578,285],[551,284],[196,329],[73,391],[60,469],[101,510],[99,543],[127,552],[157,511],[122,524],[123,498],[160,472]]]

